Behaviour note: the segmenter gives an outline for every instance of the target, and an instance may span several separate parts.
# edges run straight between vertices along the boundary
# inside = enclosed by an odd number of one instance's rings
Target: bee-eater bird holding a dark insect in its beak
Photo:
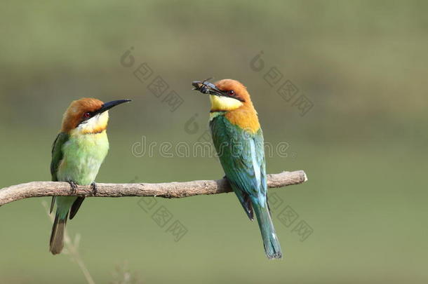
[[[269,259],[281,258],[281,247],[267,204],[263,133],[243,84],[232,79],[194,81],[210,95],[210,130],[220,163],[248,217],[255,213]]]

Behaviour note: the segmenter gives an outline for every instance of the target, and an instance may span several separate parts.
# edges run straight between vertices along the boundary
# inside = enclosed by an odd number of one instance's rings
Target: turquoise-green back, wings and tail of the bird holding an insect
[[[269,259],[281,258],[281,245],[276,236],[267,203],[265,147],[263,133],[250,133],[234,126],[225,116],[210,121],[215,149],[227,180],[248,217],[257,216],[263,245]]]

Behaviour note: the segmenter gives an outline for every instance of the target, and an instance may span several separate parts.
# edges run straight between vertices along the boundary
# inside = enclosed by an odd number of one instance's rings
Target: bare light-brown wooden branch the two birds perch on
[[[307,181],[303,170],[267,175],[267,187],[285,187]],[[195,180],[192,182],[168,182],[160,184],[97,184],[95,197],[158,196],[182,198],[201,194],[222,194],[232,189],[227,180]],[[72,192],[67,182],[28,182],[0,189],[0,206],[24,198],[41,196],[86,196],[91,197],[90,186],[78,186]]]

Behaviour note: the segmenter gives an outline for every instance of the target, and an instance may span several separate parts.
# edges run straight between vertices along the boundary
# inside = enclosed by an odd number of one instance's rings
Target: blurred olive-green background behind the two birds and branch
[[[269,173],[309,181],[271,194],[285,259],[268,261],[258,226],[232,194],[158,205],[187,228],[178,242],[139,198],[88,198],[69,234],[96,283],[127,263],[142,283],[427,283],[428,4],[425,1],[3,1],[0,4],[0,187],[49,180],[51,143],[79,97],[130,98],[110,111],[98,182],[218,179],[216,158],[136,157],[135,142],[187,142],[208,126],[190,83],[242,81],[265,140],[287,142]],[[133,47],[133,67],[121,56]],[[263,51],[265,68],[250,61]],[[154,74],[140,82],[142,62]],[[312,109],[300,115],[264,76],[276,67]],[[161,76],[183,102],[148,89]],[[194,132],[186,123],[194,117]],[[159,149],[159,148],[158,148]],[[85,283],[69,255],[48,252],[51,223],[33,198],[0,208],[0,283]],[[284,226],[289,205],[299,218]],[[305,240],[293,227],[303,220]],[[172,222],[172,221],[171,221]]]

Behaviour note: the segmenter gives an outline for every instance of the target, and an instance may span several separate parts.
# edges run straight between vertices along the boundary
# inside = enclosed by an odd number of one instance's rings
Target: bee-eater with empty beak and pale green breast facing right
[[[109,109],[131,100],[101,102],[93,98],[73,101],[62,118],[62,128],[53,142],[51,175],[53,182],[68,182],[72,191],[76,184],[90,185],[93,194],[97,187],[95,177],[109,151],[107,122]],[[53,255],[61,252],[67,217],[73,219],[84,197],[53,196],[51,212],[56,203],[49,250]]]

